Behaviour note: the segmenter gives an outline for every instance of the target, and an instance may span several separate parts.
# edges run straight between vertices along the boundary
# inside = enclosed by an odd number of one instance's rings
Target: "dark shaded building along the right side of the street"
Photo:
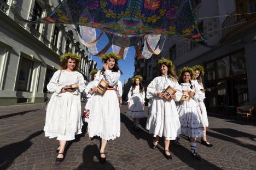
[[[212,47],[168,37],[160,56],[136,60],[135,74],[146,74],[144,80],[152,80],[151,76],[158,74],[154,67],[159,57],[173,60],[176,70],[183,66],[203,65],[208,111],[235,114],[237,106],[256,101],[256,1],[191,2],[199,19],[199,30]]]

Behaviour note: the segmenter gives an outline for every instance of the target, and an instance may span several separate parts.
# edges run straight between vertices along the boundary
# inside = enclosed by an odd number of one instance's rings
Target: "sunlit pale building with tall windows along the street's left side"
[[[69,25],[18,23],[49,15],[60,1],[0,0],[0,105],[44,102],[46,85],[67,52],[82,57],[79,71],[90,80],[96,63]]]

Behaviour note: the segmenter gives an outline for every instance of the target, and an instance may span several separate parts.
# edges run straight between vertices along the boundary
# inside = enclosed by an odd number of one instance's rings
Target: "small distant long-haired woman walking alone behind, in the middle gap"
[[[132,87],[128,93],[127,115],[133,119],[133,129],[139,130],[139,118],[144,118],[145,91],[142,85],[142,76],[137,75],[132,78]]]

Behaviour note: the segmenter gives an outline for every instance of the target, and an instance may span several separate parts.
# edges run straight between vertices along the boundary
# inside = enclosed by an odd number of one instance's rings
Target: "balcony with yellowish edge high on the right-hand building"
[[[255,21],[255,14],[253,15],[236,15],[236,10],[229,14],[222,23],[222,38],[227,38],[231,33],[237,31],[239,28],[246,26],[248,21]]]

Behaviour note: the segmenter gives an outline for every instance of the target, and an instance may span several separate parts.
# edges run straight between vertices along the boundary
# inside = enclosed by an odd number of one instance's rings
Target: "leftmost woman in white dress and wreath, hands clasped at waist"
[[[82,133],[80,93],[85,88],[84,77],[77,71],[80,56],[67,53],[60,60],[61,69],[54,73],[47,84],[47,89],[53,95],[46,110],[44,126],[46,137],[57,137],[59,140],[56,162],[63,161],[66,142]]]

